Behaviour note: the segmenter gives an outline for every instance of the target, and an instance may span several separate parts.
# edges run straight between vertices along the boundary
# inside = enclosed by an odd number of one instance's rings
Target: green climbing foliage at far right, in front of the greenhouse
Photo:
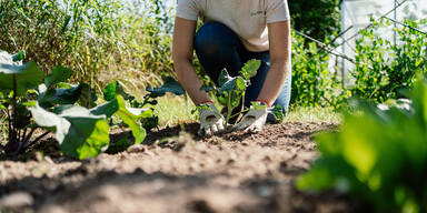
[[[384,39],[381,32],[390,26],[385,20],[371,21],[373,27],[361,30],[363,37],[356,41],[356,69],[351,94],[376,102],[399,98],[399,90],[411,88],[417,73],[427,72],[427,34],[410,28],[395,28],[398,40]],[[405,24],[418,28],[426,26],[410,19]],[[383,30],[383,31],[381,31]]]

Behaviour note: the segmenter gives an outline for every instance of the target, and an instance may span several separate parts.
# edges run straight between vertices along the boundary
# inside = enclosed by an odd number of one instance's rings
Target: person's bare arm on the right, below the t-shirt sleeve
[[[290,21],[268,23],[270,70],[257,100],[271,105],[290,71]]]

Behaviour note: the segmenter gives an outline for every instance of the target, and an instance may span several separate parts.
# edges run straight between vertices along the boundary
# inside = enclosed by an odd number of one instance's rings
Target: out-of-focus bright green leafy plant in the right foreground
[[[299,178],[305,191],[336,189],[376,212],[427,212],[427,82],[410,92],[411,105],[364,105],[342,130],[317,136],[321,156]]]

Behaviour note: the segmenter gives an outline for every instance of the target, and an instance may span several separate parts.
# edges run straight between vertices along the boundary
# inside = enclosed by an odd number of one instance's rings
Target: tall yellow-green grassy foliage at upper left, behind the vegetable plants
[[[0,0],[0,49],[24,49],[46,72],[69,67],[92,87],[119,79],[143,90],[172,71],[169,12],[157,0]]]

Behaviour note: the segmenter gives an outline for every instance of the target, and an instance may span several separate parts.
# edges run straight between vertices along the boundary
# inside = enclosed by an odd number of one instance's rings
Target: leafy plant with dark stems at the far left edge
[[[34,62],[23,64],[23,51],[14,55],[0,52],[0,108],[8,122],[8,141],[2,149],[7,153],[19,152],[30,144],[33,130],[27,129],[30,118],[21,97],[37,88],[44,75]]]

